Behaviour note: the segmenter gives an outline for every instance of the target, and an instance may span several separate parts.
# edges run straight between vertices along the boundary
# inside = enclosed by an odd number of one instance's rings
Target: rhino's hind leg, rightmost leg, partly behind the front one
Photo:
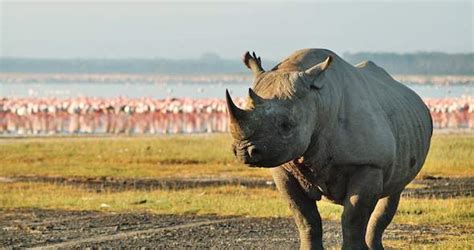
[[[365,241],[370,249],[383,249],[382,234],[397,211],[400,194],[401,192],[398,192],[377,202],[377,206],[370,216],[365,236]]]

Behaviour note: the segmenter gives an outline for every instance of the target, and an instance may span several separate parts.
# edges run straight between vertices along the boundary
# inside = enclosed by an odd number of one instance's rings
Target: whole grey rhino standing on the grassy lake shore
[[[325,49],[295,52],[271,71],[260,58],[246,107],[227,95],[236,157],[271,168],[302,249],[322,249],[317,196],[281,165],[303,156],[312,184],[344,206],[343,249],[383,249],[400,193],[420,171],[432,135],[428,109],[372,62],[352,66]],[[228,94],[228,93],[227,93]]]

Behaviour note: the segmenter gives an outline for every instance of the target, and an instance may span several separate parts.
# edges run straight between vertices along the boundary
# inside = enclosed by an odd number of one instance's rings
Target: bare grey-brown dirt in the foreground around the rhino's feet
[[[340,245],[342,237],[339,223],[323,223],[325,247]],[[403,240],[407,244],[436,243],[434,239],[468,233],[468,229],[455,226],[394,224],[390,225],[384,237],[386,240]],[[41,209],[3,210],[0,213],[0,247],[132,246],[297,249],[298,233],[290,218],[115,214]]]

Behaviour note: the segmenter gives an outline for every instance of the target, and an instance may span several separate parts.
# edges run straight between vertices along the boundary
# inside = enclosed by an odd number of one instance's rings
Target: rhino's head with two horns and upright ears
[[[321,73],[331,57],[304,71],[265,72],[260,58],[244,56],[254,73],[254,90],[244,109],[226,92],[232,148],[243,163],[275,167],[301,156],[308,148],[317,122],[317,107],[311,91],[323,85]]]

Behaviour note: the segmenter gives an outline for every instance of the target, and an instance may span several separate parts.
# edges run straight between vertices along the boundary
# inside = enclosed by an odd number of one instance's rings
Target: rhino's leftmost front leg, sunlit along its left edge
[[[323,249],[321,217],[316,201],[309,198],[298,181],[284,168],[272,170],[275,184],[289,203],[300,233],[301,249]]]

